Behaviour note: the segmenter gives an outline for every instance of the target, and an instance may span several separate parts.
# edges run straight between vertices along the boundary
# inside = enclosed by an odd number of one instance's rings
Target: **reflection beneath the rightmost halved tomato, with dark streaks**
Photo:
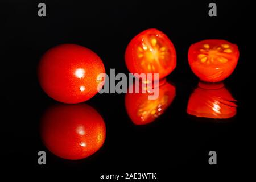
[[[236,100],[223,83],[199,82],[189,98],[187,113],[204,118],[231,118],[237,113]]]

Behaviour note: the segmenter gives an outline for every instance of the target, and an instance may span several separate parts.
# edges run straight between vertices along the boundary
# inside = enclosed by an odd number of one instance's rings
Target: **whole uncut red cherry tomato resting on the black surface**
[[[98,84],[104,83],[104,64],[90,49],[76,44],[61,44],[44,53],[38,78],[44,92],[65,103],[79,103],[92,98]]]

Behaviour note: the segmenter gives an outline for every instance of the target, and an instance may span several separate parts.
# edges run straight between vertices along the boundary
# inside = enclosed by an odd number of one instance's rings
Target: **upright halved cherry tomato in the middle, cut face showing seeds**
[[[176,51],[163,32],[148,29],[131,40],[126,48],[125,63],[131,73],[159,73],[161,79],[176,67]]]

